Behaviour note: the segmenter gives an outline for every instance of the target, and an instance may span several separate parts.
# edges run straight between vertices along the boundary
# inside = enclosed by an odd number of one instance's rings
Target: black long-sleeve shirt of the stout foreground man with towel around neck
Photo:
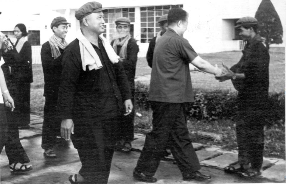
[[[124,112],[122,102],[132,98],[122,63],[111,63],[100,38],[98,45],[92,46],[103,67],[91,71],[83,70],[78,39],[65,49],[58,93],[61,119],[113,118]]]

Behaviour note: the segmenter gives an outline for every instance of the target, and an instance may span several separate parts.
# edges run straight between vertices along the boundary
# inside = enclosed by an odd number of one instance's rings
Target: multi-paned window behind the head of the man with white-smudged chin
[[[135,8],[116,8],[108,9],[104,12],[104,21],[106,29],[103,33],[105,38],[112,40],[112,35],[116,32],[115,20],[119,17],[127,17],[130,19],[131,24],[134,24],[135,21]],[[133,25],[131,25],[133,27]],[[108,34],[108,35],[107,35]],[[130,29],[130,34],[133,36],[133,30]],[[108,36],[108,37],[107,37]]]

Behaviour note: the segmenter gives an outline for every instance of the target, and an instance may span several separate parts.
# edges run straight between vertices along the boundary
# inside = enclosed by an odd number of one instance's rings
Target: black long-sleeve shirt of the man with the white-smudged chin
[[[111,46],[113,45],[114,40],[111,42]],[[120,49],[122,46],[117,46],[117,55],[120,53]],[[130,89],[135,89],[134,79],[135,79],[135,72],[136,72],[136,63],[137,63],[137,54],[139,52],[139,47],[136,41],[133,38],[128,40],[127,44],[127,58],[122,61],[122,65],[124,67],[127,79],[129,81]]]

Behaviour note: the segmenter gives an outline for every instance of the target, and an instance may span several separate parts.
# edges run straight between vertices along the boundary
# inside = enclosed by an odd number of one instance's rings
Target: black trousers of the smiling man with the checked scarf
[[[60,135],[61,121],[56,117],[57,97],[46,96],[42,131],[42,148],[52,149],[56,144],[56,136]]]

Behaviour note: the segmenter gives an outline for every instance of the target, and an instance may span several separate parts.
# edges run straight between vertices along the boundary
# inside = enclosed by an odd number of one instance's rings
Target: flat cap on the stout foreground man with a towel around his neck
[[[89,15],[91,13],[95,12],[101,12],[105,9],[102,9],[102,5],[99,2],[88,2],[81,6],[76,12],[75,12],[75,18],[77,20],[83,19],[86,15]]]

